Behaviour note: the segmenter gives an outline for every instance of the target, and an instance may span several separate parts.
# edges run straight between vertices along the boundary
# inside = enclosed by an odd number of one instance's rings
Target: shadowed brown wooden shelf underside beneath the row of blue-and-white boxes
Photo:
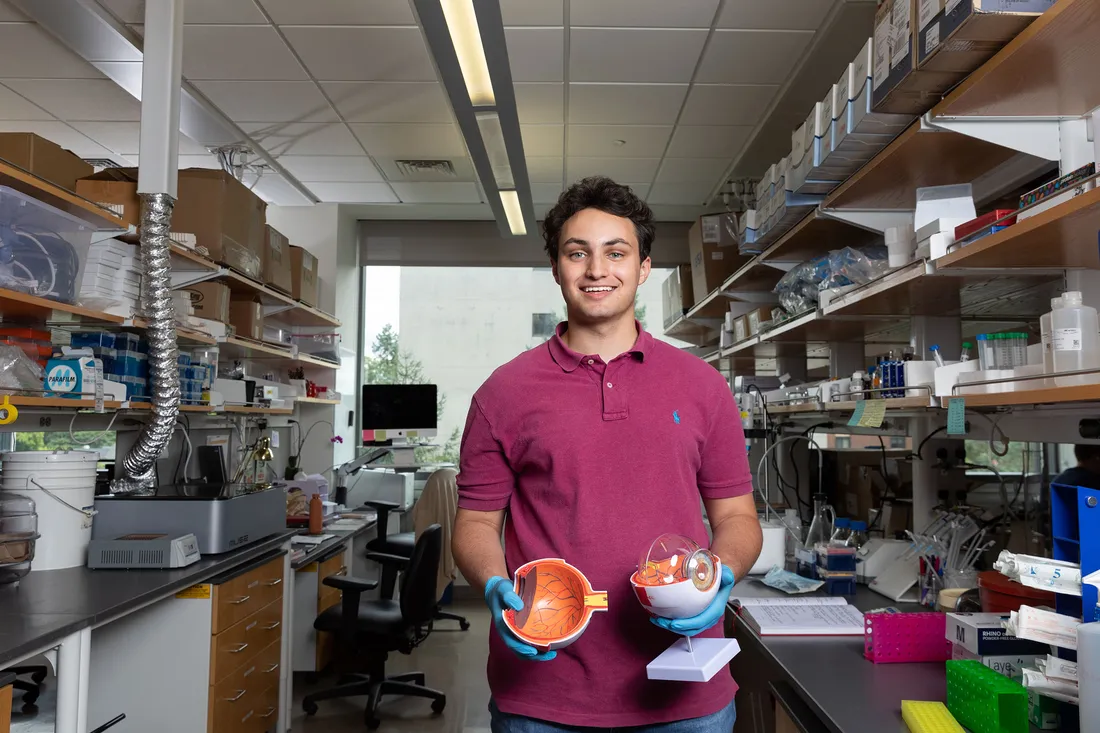
[[[911,211],[916,189],[972,183],[1015,151],[914,122],[825,198],[823,209]]]

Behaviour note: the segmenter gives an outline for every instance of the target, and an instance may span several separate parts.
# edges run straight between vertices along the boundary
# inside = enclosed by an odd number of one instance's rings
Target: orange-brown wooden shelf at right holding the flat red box
[[[1096,269],[1100,267],[1098,230],[1100,188],[1093,188],[948,252],[936,260],[936,267]]]

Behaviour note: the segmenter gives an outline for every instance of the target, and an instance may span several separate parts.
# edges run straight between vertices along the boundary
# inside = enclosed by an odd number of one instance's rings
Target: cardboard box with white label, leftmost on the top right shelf
[[[923,114],[957,81],[954,74],[919,70],[919,0],[883,0],[875,15],[872,109]]]

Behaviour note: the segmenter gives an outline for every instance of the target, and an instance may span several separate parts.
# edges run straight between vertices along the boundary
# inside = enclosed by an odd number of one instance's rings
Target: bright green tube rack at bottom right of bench
[[[974,733],[1027,733],[1027,690],[972,659],[947,664],[947,709]]]

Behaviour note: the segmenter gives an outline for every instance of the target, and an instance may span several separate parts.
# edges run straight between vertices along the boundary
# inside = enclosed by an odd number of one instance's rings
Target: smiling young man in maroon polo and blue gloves
[[[729,733],[737,687],[727,672],[651,681],[646,665],[676,634],[722,636],[734,578],[760,551],[737,406],[717,371],[635,320],[653,220],[628,187],[585,178],[543,229],[568,321],[482,385],[462,438],[453,548],[493,612],[493,733]],[[651,623],[629,578],[669,532],[710,546],[725,571],[702,614]],[[608,612],[557,653],[538,654],[501,621],[522,608],[512,571],[539,558],[562,558],[607,590]]]

